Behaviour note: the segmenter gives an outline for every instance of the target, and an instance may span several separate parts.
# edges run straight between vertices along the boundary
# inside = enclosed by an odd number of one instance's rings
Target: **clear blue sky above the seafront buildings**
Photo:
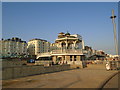
[[[112,9],[117,16],[117,2],[3,2],[2,37],[54,43],[68,31],[81,35],[86,46],[115,54]]]

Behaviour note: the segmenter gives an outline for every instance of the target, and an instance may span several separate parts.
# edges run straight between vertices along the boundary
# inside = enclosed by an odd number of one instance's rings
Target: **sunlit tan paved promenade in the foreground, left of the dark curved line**
[[[100,88],[117,72],[116,70],[106,71],[103,64],[88,65],[84,69],[4,80],[3,88]]]

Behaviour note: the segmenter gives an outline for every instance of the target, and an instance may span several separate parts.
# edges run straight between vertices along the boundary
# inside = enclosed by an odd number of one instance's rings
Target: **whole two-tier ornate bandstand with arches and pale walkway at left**
[[[85,60],[83,54],[84,42],[78,34],[59,33],[55,43],[51,45],[51,52],[37,55],[37,59],[51,57],[54,64],[71,64],[82,67],[82,61]]]

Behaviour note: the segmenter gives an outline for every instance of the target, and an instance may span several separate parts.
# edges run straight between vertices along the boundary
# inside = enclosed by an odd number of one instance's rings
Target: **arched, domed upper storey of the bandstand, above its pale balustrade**
[[[70,33],[59,33],[55,43],[52,44],[52,50],[63,49],[84,49],[84,41],[78,34],[71,35]]]

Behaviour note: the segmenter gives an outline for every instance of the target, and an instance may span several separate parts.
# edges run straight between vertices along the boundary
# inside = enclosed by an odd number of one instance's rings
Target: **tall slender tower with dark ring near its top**
[[[117,41],[117,36],[116,36],[116,23],[115,23],[116,16],[114,15],[114,10],[112,10],[112,16],[110,18],[112,19],[112,23],[113,23],[113,32],[114,32],[114,42],[115,42],[116,55],[118,55],[118,41]]]

